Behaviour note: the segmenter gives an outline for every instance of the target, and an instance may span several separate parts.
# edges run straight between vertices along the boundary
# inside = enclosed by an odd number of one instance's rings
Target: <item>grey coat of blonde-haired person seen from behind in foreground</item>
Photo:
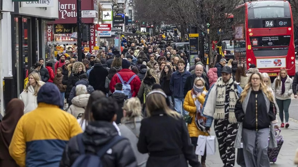
[[[131,147],[134,151],[134,155],[136,156],[136,160],[138,162],[138,167],[145,167],[149,155],[141,154],[136,146],[139,141],[141,120],[142,117],[139,116],[136,117],[135,122],[134,120],[128,120],[120,124],[118,127],[120,129],[121,136],[129,139]]]

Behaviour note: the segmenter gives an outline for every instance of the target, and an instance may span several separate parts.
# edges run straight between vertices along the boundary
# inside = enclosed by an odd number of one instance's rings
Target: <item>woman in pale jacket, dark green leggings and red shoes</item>
[[[280,69],[279,75],[274,79],[272,90],[277,106],[279,108],[279,116],[281,120],[280,127],[288,128],[289,121],[289,107],[291,104],[291,95],[293,94],[292,89],[293,80],[289,77],[288,72],[285,68]],[[285,112],[285,124],[283,123],[283,115]]]

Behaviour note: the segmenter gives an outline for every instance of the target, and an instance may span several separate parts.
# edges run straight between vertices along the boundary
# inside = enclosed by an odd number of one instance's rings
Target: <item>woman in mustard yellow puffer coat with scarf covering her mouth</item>
[[[207,90],[204,78],[197,77],[193,83],[193,89],[187,92],[183,107],[185,111],[189,112],[191,121],[187,122],[187,129],[190,136],[191,143],[194,147],[197,146],[198,136],[209,136],[206,131],[206,118],[201,116],[201,110],[205,102]],[[201,157],[202,167],[206,167],[206,149],[204,155]]]

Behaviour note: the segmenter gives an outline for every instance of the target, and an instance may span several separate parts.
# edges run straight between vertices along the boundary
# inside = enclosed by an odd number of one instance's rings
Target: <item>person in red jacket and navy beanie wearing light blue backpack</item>
[[[115,85],[116,83],[122,83],[122,84],[129,84],[131,92],[128,92],[127,86],[124,85],[123,91],[125,92],[125,95],[130,97],[136,97],[136,95],[139,92],[141,81],[140,78],[131,71],[131,62],[129,62],[126,59],[122,59],[122,70],[120,70],[118,73],[116,73],[110,82],[110,91],[113,93],[115,91]]]

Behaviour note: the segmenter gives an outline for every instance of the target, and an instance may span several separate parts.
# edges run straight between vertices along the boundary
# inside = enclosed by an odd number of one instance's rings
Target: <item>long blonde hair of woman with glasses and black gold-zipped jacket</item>
[[[260,77],[260,80],[261,80],[260,90],[265,93],[265,95],[269,99],[269,101],[274,102],[274,98],[273,98],[270,90],[268,89],[268,86],[264,83],[261,74],[259,72],[252,73],[252,75],[254,75],[254,74],[259,75],[259,77]],[[241,103],[243,103],[245,97],[247,96],[247,93],[248,93],[249,89],[252,87],[252,84],[251,84],[252,75],[250,76],[248,83],[246,84],[246,86],[244,87],[244,89],[243,89],[243,91],[240,95],[240,102]]]

